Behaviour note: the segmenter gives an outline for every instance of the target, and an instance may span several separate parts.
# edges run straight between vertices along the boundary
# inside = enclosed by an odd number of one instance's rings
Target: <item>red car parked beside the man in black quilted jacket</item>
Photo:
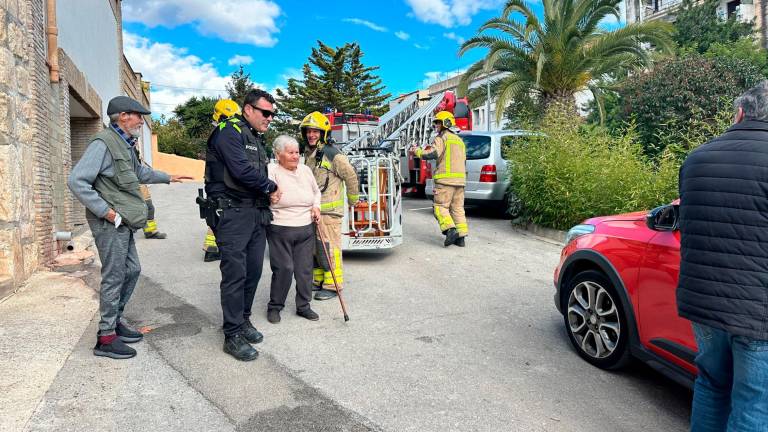
[[[675,300],[677,217],[674,202],[571,228],[555,269],[555,305],[589,363],[617,369],[634,357],[692,387],[696,342]]]

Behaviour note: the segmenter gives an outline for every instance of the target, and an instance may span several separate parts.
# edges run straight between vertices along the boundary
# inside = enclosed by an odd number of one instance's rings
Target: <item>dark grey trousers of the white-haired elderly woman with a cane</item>
[[[296,310],[309,308],[312,294],[312,256],[315,247],[315,229],[312,224],[290,227],[270,225],[269,265],[272,285],[267,309],[282,310],[292,279],[296,279]]]

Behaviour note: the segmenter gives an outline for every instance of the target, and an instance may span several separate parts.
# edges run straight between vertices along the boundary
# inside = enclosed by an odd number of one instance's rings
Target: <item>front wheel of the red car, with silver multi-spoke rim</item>
[[[586,270],[568,281],[563,318],[568,339],[581,358],[609,370],[629,362],[627,315],[618,291],[604,273]]]

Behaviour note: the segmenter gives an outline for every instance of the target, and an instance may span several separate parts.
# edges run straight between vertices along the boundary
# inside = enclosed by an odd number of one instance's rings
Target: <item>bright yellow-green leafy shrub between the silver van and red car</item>
[[[620,136],[549,113],[544,136],[513,146],[512,191],[531,222],[567,229],[600,215],[646,210],[677,196],[679,158],[671,152],[652,163],[634,128]]]

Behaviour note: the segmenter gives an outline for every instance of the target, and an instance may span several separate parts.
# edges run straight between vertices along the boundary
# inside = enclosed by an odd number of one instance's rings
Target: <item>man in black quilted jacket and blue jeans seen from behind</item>
[[[698,345],[692,431],[768,430],[768,81],[680,168],[678,313]]]

